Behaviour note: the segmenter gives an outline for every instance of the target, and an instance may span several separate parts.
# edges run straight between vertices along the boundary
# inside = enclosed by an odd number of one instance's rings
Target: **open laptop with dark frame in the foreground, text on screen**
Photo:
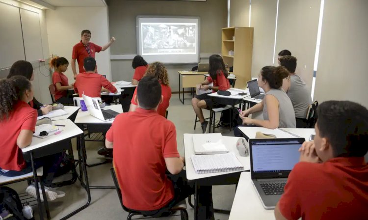
[[[304,141],[304,138],[249,139],[252,185],[265,209],[274,209],[284,193]]]

